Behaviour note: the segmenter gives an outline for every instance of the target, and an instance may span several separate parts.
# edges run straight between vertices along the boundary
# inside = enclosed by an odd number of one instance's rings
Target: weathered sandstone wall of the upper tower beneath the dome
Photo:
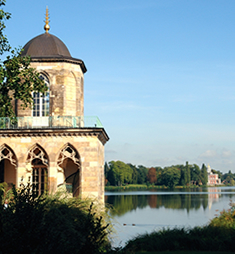
[[[50,115],[83,116],[83,72],[79,65],[66,62],[32,62],[31,67],[46,75],[50,82]],[[13,102],[14,103],[14,102]],[[17,116],[32,116],[18,101]]]

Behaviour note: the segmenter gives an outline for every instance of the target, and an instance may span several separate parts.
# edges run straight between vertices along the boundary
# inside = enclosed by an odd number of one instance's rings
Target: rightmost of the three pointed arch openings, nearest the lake
[[[60,151],[57,166],[63,173],[63,183],[68,192],[72,193],[74,197],[80,194],[80,156],[77,150],[71,145],[66,144]]]

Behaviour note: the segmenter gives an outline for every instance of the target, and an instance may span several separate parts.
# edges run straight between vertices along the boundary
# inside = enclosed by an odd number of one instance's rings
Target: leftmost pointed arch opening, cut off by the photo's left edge
[[[0,147],[0,183],[6,182],[8,188],[16,185],[17,158],[6,144]]]

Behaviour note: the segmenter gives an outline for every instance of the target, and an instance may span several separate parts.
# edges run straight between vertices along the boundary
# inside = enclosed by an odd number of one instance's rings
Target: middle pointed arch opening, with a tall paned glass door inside
[[[27,163],[31,164],[31,181],[36,195],[42,195],[48,191],[48,167],[49,158],[45,150],[38,144],[28,152]]]

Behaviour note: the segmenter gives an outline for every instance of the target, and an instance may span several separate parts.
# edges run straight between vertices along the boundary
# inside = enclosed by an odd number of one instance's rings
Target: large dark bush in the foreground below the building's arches
[[[16,190],[0,209],[0,253],[103,253],[107,227],[93,203],[66,193],[36,197]]]

